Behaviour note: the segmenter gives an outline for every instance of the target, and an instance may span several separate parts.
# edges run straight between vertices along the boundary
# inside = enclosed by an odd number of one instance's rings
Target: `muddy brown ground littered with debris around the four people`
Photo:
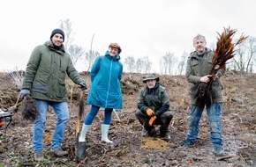
[[[33,123],[21,119],[21,111],[14,113],[11,125],[0,131],[0,167],[2,166],[256,166],[256,74],[229,71],[222,76],[224,87],[222,134],[225,156],[214,156],[209,140],[206,112],[200,121],[200,134],[196,147],[178,148],[185,139],[187,119],[190,113],[189,87],[184,76],[160,76],[160,83],[168,89],[170,110],[174,118],[169,125],[169,142],[146,138],[145,131],[135,117],[139,89],[144,86],[142,74],[124,74],[122,78],[123,106],[113,113],[109,129],[110,146],[101,142],[102,110],[87,133],[87,157],[76,162],[75,132],[79,112],[79,89],[67,86],[70,106],[70,121],[65,132],[63,149],[68,156],[54,157],[49,154],[56,116],[49,108],[44,134],[44,161],[34,162],[32,148]],[[88,76],[83,75],[87,79]],[[67,79],[67,83],[71,81]],[[15,84],[0,73],[0,107],[15,105],[19,94]],[[87,94],[87,91],[86,91]],[[20,102],[20,101],[19,101]],[[20,104],[20,103],[19,103]],[[85,113],[90,106],[85,105]],[[118,120],[118,118],[120,120]],[[82,119],[83,120],[83,119]],[[82,122],[81,122],[82,123]],[[157,127],[158,128],[158,127]]]

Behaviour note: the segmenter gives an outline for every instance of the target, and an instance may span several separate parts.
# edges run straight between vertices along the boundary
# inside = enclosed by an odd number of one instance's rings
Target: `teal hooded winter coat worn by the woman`
[[[123,64],[119,60],[119,54],[112,57],[109,51],[97,57],[90,73],[92,86],[87,97],[87,104],[114,109],[123,107],[120,83]]]

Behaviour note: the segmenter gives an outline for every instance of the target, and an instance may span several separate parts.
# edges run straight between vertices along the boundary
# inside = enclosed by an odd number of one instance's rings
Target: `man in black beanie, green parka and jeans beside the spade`
[[[50,40],[34,48],[26,65],[20,98],[31,95],[35,99],[38,113],[34,120],[34,160],[43,160],[44,125],[49,105],[56,113],[57,123],[51,143],[51,152],[55,156],[65,156],[62,149],[64,131],[69,120],[68,98],[65,88],[65,76],[68,75],[75,84],[84,90],[86,82],[74,68],[70,55],[64,50],[64,32],[54,29]]]

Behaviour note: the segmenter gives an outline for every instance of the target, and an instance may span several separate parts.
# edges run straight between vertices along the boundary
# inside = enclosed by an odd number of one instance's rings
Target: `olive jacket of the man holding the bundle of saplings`
[[[192,83],[192,87],[195,84],[200,83],[200,78],[202,76],[207,76],[210,73],[210,69],[212,67],[212,61],[214,58],[214,52],[209,48],[206,48],[205,54],[200,55],[196,53],[196,51],[192,52],[187,60],[185,77],[189,83]],[[222,83],[221,76],[224,74],[225,69],[220,69],[217,72],[217,78],[213,81],[212,91],[215,92],[215,98],[213,99],[214,103],[222,103]],[[195,102],[195,99],[191,99],[192,105],[198,105]]]

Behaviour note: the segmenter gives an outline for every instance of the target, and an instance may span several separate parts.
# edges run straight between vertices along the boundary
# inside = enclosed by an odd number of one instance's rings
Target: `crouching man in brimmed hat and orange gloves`
[[[147,136],[155,136],[155,126],[160,125],[160,137],[169,140],[168,127],[172,114],[169,112],[169,95],[166,88],[154,74],[147,74],[142,81],[146,86],[139,93],[139,111],[136,117],[146,129]]]

